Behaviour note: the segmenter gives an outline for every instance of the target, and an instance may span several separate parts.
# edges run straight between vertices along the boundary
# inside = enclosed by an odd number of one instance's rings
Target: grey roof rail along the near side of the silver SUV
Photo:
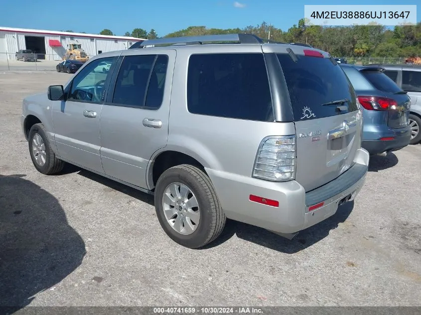
[[[149,39],[140,43],[139,48],[145,46],[185,44],[201,45],[206,42],[240,42],[240,44],[263,44],[264,41],[253,34],[221,34],[221,35],[203,35],[203,36],[185,36],[185,37],[167,37],[159,39]]]

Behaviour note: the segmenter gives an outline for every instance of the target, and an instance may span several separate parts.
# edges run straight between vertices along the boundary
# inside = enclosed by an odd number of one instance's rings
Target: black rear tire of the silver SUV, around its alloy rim
[[[174,183],[185,185],[192,194],[187,194],[187,198],[188,196],[193,196],[197,200],[198,208],[195,212],[199,213],[198,223],[196,221],[196,224],[193,225],[195,228],[194,231],[187,235],[176,231],[164,214],[163,201],[170,201],[168,198],[164,200],[164,194]],[[195,166],[182,164],[171,167],[163,172],[156,183],[154,199],[156,215],[163,230],[173,241],[182,246],[188,248],[203,247],[214,241],[221,234],[225,226],[226,216],[219,204],[215,189],[209,177]],[[180,208],[181,206],[178,207],[175,205],[174,208],[167,209],[174,209],[173,211],[181,213],[181,211],[177,211],[177,209]],[[186,218],[184,222],[186,224],[189,213],[191,213],[191,211],[187,211],[184,214]],[[174,215],[178,218],[178,214]],[[176,221],[174,221],[174,225],[175,222]],[[182,226],[187,225],[182,224]],[[185,228],[183,227],[183,229]]]

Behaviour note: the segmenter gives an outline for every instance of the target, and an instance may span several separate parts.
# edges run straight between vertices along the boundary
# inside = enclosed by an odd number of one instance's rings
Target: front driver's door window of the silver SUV
[[[69,100],[101,103],[104,84],[109,72],[96,72],[100,63],[108,62],[112,66],[117,57],[101,58],[91,61],[74,79],[70,90]]]

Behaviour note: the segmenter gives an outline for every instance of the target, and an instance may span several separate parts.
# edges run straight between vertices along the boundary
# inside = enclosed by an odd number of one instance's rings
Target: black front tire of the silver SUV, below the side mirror
[[[37,159],[34,153],[36,150],[35,142],[37,142],[38,144],[40,143],[40,141],[37,141],[39,140],[38,135],[40,136],[44,144],[44,154],[41,154],[41,155],[44,156],[45,162],[42,165],[37,162]],[[34,141],[34,138],[36,138],[35,141]],[[38,172],[44,175],[51,175],[51,174],[61,172],[63,170],[65,162],[57,159],[57,157],[55,156],[53,150],[51,149],[51,144],[50,144],[50,141],[48,140],[45,127],[42,123],[34,124],[29,130],[28,146],[29,146],[29,154],[31,156],[32,163]],[[40,154],[38,154],[38,156],[39,155]]]

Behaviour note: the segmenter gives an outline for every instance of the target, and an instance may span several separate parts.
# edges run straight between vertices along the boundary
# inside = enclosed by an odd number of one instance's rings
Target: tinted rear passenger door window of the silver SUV
[[[117,77],[113,103],[159,108],[164,94],[167,55],[126,56]]]

